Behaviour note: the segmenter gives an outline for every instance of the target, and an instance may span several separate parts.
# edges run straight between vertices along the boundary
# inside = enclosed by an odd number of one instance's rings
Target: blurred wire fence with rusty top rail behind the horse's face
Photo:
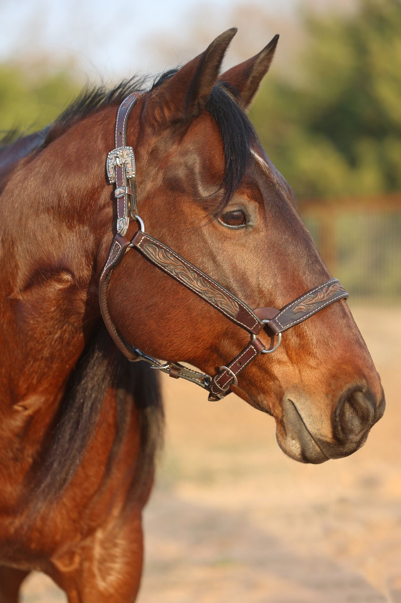
[[[301,201],[299,212],[352,298],[401,303],[401,194]]]

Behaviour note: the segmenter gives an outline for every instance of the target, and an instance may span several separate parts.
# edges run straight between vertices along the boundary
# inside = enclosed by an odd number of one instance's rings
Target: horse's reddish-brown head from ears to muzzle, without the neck
[[[322,463],[363,445],[384,412],[383,391],[344,299],[323,303],[333,289],[318,286],[331,275],[292,189],[246,115],[278,36],[219,75],[235,33],[217,37],[137,99],[127,140],[135,152],[138,212],[152,237],[188,260],[189,271],[190,264],[200,268],[249,308],[280,309],[300,297],[292,312],[310,320],[289,323],[296,326],[283,333],[280,348],[260,354],[231,390],[273,415],[287,455]],[[104,203],[99,268],[111,241],[111,219],[111,206]],[[128,230],[130,238],[136,227]],[[237,324],[139,253],[126,254],[109,285],[118,333],[147,355],[185,361],[210,374],[246,346],[249,335]],[[316,304],[323,309],[314,314]],[[275,344],[269,329],[259,339],[266,349]]]

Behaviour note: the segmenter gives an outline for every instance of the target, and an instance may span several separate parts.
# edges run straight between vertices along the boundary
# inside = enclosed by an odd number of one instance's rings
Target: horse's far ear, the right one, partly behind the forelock
[[[236,67],[228,69],[221,76],[221,81],[227,82],[239,92],[246,105],[251,104],[263,77],[269,71],[278,42],[278,34],[268,43],[263,50],[247,61]]]

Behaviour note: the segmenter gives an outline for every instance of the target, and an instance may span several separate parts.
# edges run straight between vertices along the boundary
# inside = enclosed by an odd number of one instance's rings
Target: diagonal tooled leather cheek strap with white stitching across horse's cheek
[[[249,333],[259,333],[263,329],[263,323],[243,301],[153,236],[139,230],[132,239],[132,245],[152,264],[191,289],[233,323]]]

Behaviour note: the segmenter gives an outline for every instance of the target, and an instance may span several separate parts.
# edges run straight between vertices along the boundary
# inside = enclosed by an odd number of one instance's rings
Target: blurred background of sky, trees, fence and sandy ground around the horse
[[[225,68],[280,33],[250,117],[351,294],[388,407],[363,450],[301,466],[270,417],[165,380],[139,603],[400,603],[401,1],[0,0],[0,130],[41,128],[85,83],[156,75],[233,26]],[[33,575],[23,602],[41,601],[64,596]]]

